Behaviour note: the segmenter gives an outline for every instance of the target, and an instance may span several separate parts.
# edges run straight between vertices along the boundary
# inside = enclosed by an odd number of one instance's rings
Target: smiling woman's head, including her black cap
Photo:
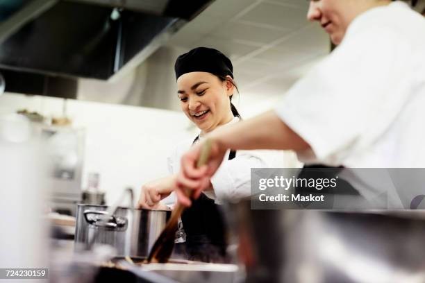
[[[174,69],[181,109],[201,135],[240,117],[231,103],[233,65],[223,53],[199,47],[179,56]]]

